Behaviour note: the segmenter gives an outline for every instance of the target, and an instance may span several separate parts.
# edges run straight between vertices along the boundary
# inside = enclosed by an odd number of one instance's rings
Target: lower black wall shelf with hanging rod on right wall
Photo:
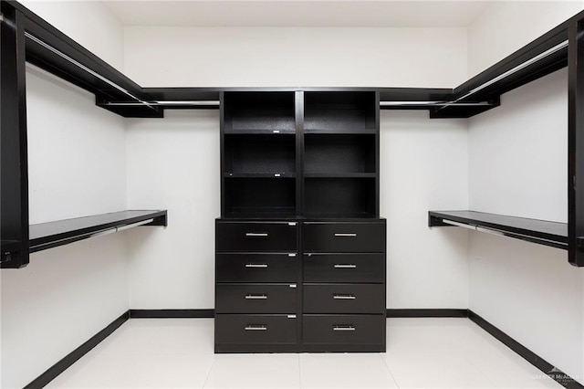
[[[428,226],[462,226],[479,232],[568,249],[567,223],[474,211],[430,211]]]

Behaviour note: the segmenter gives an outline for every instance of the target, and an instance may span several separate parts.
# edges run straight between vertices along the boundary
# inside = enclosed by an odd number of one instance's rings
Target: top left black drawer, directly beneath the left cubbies
[[[297,252],[296,222],[227,222],[215,224],[217,251]]]

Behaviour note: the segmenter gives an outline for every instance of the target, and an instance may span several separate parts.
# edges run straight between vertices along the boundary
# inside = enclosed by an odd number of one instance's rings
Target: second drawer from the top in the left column
[[[297,282],[297,254],[216,254],[215,279],[217,282]]]

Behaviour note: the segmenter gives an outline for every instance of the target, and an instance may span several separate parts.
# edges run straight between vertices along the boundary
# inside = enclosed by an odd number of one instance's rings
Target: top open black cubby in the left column
[[[224,133],[295,133],[294,92],[225,92]]]

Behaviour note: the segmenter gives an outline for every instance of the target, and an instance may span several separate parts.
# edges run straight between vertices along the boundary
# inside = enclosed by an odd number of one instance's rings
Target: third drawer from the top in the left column
[[[297,284],[218,284],[217,313],[296,313]]]

